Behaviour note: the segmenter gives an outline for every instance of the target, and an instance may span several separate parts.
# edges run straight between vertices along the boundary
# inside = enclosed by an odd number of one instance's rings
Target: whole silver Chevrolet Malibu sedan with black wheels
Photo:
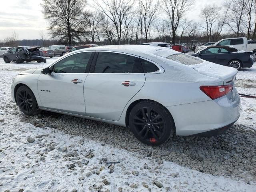
[[[214,136],[234,124],[237,72],[164,47],[100,46],[18,74],[12,97],[26,115],[47,110],[108,122],[160,145],[174,133]]]

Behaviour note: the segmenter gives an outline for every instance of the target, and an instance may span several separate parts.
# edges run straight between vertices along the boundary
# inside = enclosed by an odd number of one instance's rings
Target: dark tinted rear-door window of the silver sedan
[[[99,52],[95,73],[143,73],[139,58],[111,52]]]

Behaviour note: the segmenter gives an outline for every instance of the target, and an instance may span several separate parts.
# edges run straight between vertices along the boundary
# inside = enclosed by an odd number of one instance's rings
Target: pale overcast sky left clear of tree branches
[[[195,0],[194,6],[185,17],[189,20],[200,20],[200,10],[209,4],[220,6],[223,0]],[[11,36],[15,31],[18,39],[40,38],[40,31],[43,30],[46,37],[47,20],[42,14],[40,4],[42,0],[0,0],[0,41]],[[92,1],[88,0],[88,8],[92,6]]]

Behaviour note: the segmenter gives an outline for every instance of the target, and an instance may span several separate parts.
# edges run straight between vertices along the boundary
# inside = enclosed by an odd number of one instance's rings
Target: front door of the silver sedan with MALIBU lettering
[[[38,78],[38,93],[43,108],[85,114],[84,82],[86,66],[94,52],[72,54],[51,67],[52,73]]]

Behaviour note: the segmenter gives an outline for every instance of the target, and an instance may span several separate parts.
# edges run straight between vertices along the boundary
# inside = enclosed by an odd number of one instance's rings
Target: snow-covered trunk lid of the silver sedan
[[[204,61],[200,64],[189,65],[200,74],[209,77],[218,78],[223,82],[223,85],[234,84],[238,70],[232,67],[222,66],[212,62]]]

